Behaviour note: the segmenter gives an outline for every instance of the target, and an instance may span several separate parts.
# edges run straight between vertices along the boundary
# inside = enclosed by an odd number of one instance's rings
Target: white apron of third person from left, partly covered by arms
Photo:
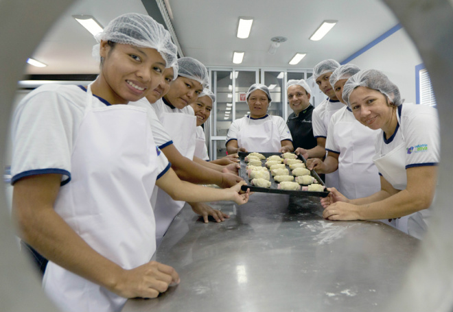
[[[194,159],[196,140],[196,117],[183,112],[164,112],[161,122],[172,138],[173,144],[183,156]],[[162,189],[158,189],[154,216],[156,217],[156,243],[160,245],[174,217],[185,202],[173,200]]]

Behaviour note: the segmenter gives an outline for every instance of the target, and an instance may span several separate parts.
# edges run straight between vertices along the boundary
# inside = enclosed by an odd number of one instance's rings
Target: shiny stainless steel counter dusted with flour
[[[314,197],[255,193],[204,224],[185,206],[154,259],[181,284],[123,311],[382,311],[419,241],[371,221],[327,221]]]

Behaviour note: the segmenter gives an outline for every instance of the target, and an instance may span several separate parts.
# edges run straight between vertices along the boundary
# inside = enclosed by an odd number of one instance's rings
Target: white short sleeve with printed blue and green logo
[[[415,108],[420,109],[415,110],[406,119],[406,124],[402,124],[407,150],[406,169],[437,165],[440,160],[439,117],[437,110],[422,106]]]

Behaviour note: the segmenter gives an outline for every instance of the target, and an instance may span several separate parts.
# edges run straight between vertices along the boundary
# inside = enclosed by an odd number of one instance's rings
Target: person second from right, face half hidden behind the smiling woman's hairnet
[[[331,173],[338,169],[339,189],[349,199],[367,197],[380,190],[380,178],[373,163],[376,131],[362,125],[342,99],[342,87],[360,69],[345,64],[330,75],[330,84],[344,107],[330,119],[327,130],[325,160],[307,160],[307,168],[318,173]]]

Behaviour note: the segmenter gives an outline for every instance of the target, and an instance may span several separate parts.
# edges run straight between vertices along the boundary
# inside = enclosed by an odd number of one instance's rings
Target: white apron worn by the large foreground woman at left
[[[54,208],[94,250],[132,269],[150,261],[156,249],[150,196],[157,154],[150,124],[143,108],[93,108],[90,87],[86,97],[71,182],[60,188]],[[43,287],[65,311],[120,311],[126,302],[52,262]]]

